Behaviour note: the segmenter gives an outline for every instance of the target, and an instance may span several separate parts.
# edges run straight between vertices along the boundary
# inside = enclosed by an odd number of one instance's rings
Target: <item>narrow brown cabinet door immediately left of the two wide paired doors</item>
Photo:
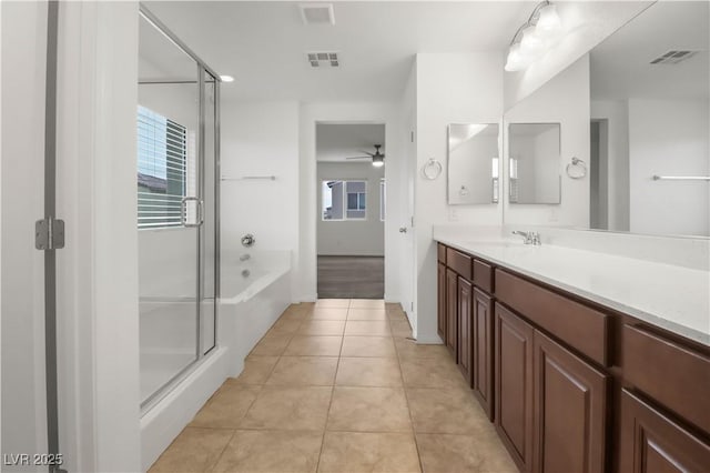
[[[493,421],[493,302],[490,296],[474,288],[473,303],[473,372],[471,388],[480,405]]]

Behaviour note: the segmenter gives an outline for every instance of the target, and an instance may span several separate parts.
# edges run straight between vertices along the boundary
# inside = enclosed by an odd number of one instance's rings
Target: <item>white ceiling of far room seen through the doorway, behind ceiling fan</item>
[[[346,160],[352,157],[366,157],[375,152],[375,144],[385,148],[385,125],[377,123],[318,123],[316,124],[316,160],[328,162],[367,162]],[[385,163],[387,159],[385,158]]]

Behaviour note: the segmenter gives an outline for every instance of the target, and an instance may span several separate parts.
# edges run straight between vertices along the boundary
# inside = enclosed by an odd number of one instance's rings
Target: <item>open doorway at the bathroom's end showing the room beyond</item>
[[[384,123],[317,123],[318,299],[383,299]]]

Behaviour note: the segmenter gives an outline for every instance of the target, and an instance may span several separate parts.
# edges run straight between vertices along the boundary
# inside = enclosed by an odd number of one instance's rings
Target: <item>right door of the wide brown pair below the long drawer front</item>
[[[535,332],[534,467],[601,473],[609,376]]]

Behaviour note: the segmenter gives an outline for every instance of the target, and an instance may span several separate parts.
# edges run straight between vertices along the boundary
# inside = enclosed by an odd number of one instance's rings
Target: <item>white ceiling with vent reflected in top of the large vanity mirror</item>
[[[592,99],[707,99],[710,3],[657,2],[590,54]],[[701,50],[678,64],[650,64],[669,50]]]

